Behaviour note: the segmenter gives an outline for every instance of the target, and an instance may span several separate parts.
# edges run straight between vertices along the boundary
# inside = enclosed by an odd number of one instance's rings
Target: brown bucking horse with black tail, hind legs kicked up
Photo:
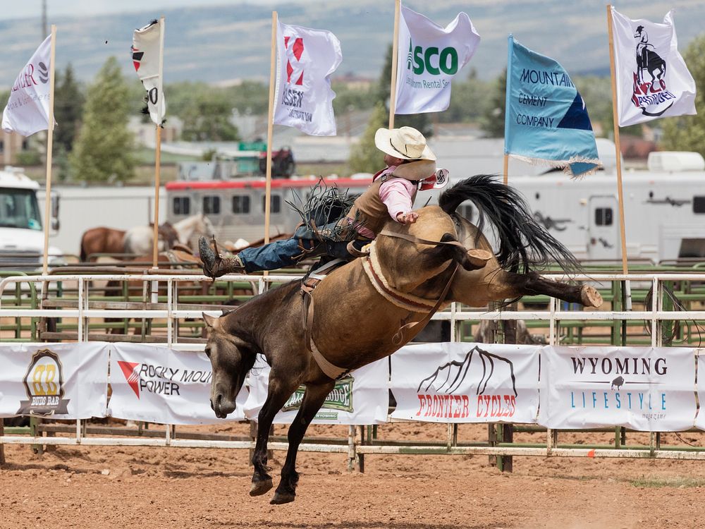
[[[465,200],[479,209],[474,226],[455,210]],[[390,221],[369,255],[333,270],[305,303],[302,281],[292,281],[221,317],[203,317],[205,353],[213,369],[211,406],[219,418],[258,354],[271,366],[269,390],[257,424],[250,495],[273,487],[266,447],[274,415],[301,384],[305,395],[288,430],[288,451],[272,504],[295,499],[298,446],[336,379],[384,358],[413,339],[431,316],[452,301],[484,307],[490,300],[546,294],[598,307],[591,286],[543,279],[534,267],[558,262],[577,269],[568,250],[537,224],[523,198],[491,176],[474,176],[446,190],[439,206],[418,210],[415,224]],[[498,252],[482,233],[494,224]],[[302,320],[304,324],[302,325]]]

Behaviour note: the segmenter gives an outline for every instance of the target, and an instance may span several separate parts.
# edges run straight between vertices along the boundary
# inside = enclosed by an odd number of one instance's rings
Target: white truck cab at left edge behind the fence
[[[37,200],[39,184],[18,167],[0,171],[0,269],[34,270],[42,266],[44,226]],[[59,229],[56,218],[59,199],[52,200],[51,228]],[[49,248],[50,262],[61,255]]]

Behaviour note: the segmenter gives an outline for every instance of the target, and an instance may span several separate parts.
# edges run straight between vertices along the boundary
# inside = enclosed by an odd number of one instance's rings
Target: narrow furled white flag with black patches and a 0
[[[162,90],[161,66],[164,52],[164,18],[152,20],[133,33],[132,59],[137,77],[147,90],[147,109],[155,125],[164,123],[166,99]]]

